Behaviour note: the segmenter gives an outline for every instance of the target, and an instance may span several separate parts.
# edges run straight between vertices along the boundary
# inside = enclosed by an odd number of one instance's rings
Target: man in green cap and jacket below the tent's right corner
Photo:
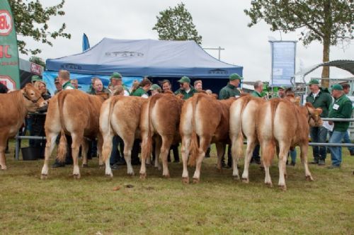
[[[241,93],[237,87],[239,87],[242,79],[243,78],[239,76],[239,74],[230,74],[229,83],[219,92],[219,99],[227,100],[230,97],[240,96]],[[229,149],[227,150],[227,165],[225,164],[224,156],[222,156],[222,166],[232,167],[231,144],[229,144]]]

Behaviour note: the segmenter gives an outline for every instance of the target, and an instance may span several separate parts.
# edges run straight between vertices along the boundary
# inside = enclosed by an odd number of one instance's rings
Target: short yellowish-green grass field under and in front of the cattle
[[[12,150],[13,143],[8,170],[0,172],[0,234],[354,234],[354,157],[347,149],[341,169],[310,165],[314,182],[304,180],[299,162],[288,166],[286,192],[276,187],[276,162],[274,188],[263,184],[257,165],[249,184],[233,180],[231,169],[219,173],[215,156],[203,162],[199,184],[183,185],[182,164],[173,163],[169,179],[151,167],[146,180],[127,176],[125,167],[109,179],[97,158],[79,180],[72,166],[50,168],[40,180],[42,160],[16,161]]]

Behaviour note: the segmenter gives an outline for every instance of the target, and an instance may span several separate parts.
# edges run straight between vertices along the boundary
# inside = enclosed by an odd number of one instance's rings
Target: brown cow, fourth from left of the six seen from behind
[[[205,93],[195,93],[183,104],[179,129],[182,138],[184,183],[189,183],[187,169],[189,152],[191,154],[188,164],[194,165],[196,161],[193,182],[198,183],[202,159],[211,142],[216,144],[217,168],[221,169],[221,157],[224,154],[225,144],[229,142],[229,108],[235,99],[218,101]]]

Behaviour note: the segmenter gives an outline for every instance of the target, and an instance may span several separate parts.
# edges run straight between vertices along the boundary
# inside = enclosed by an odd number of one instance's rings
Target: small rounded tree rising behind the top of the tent
[[[195,29],[192,15],[181,3],[171,8],[171,6],[160,11],[156,16],[157,23],[152,30],[159,33],[159,40],[194,40],[198,44],[202,43],[202,36],[198,35]]]

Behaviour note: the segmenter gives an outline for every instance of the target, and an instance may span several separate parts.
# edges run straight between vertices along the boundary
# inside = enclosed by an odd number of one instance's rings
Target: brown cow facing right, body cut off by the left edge
[[[28,112],[47,105],[38,89],[26,84],[19,91],[0,94],[0,166],[6,170],[5,149],[8,137],[14,137]]]

